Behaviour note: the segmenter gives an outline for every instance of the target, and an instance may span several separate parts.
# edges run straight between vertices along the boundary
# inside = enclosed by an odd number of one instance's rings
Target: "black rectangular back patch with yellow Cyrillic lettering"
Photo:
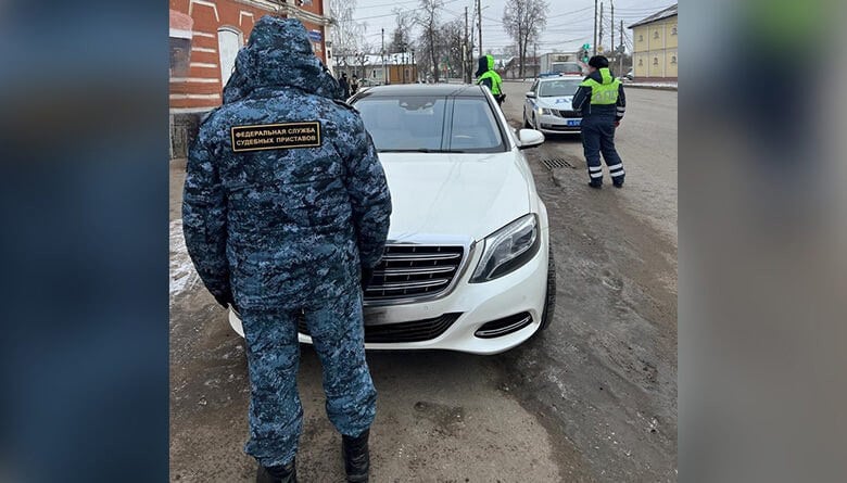
[[[317,148],[321,144],[320,123],[258,124],[232,126],[232,152]]]

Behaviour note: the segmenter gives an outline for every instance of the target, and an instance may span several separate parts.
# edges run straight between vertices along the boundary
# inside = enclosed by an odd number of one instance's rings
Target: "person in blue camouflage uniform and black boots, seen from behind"
[[[258,481],[296,478],[301,314],[349,481],[368,476],[376,390],[361,282],[382,255],[391,198],[370,136],[341,96],[303,25],[265,16],[189,154],[186,243],[208,291],[241,315],[251,389],[244,450],[260,462]]]

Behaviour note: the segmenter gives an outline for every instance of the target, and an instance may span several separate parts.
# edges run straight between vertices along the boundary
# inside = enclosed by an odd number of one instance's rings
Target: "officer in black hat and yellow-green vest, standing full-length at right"
[[[603,153],[612,185],[622,188],[623,162],[615,149],[615,129],[627,112],[627,98],[620,79],[609,71],[608,59],[603,55],[589,59],[589,75],[577,89],[572,107],[582,112],[582,149],[589,165],[589,186],[603,188]]]

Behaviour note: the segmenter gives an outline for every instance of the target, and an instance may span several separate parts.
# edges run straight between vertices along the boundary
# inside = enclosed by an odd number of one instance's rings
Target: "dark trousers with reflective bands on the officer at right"
[[[615,117],[587,116],[582,118],[582,149],[585,153],[585,163],[589,165],[589,180],[596,183],[603,182],[603,166],[601,153],[609,167],[612,182],[623,182],[623,162],[615,149]]]

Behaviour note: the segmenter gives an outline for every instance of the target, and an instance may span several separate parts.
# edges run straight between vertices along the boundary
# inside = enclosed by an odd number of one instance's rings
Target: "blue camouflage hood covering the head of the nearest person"
[[[236,69],[224,88],[224,103],[239,101],[263,87],[292,87],[329,99],[344,93],[312,51],[306,28],[296,18],[265,15],[236,58]]]

